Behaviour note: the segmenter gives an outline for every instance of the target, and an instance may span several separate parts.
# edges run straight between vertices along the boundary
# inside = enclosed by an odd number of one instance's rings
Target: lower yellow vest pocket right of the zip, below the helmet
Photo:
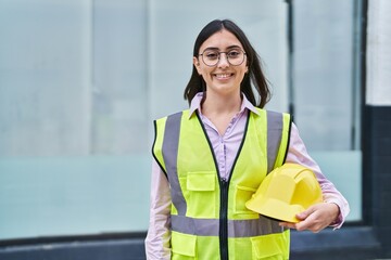
[[[251,237],[253,259],[286,260],[285,250],[288,250],[281,234]]]

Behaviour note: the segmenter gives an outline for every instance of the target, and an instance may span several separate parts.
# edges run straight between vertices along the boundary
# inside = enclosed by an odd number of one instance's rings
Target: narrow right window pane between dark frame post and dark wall
[[[294,119],[324,173],[346,197],[348,220],[362,219],[361,1],[295,0]]]

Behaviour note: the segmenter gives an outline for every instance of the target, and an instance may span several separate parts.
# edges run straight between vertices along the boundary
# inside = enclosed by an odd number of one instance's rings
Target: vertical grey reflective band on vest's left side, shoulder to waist
[[[187,211],[187,204],[180,188],[177,169],[181,115],[182,113],[180,112],[167,117],[162,144],[162,154],[169,180],[173,204],[178,210],[178,214],[185,216]]]

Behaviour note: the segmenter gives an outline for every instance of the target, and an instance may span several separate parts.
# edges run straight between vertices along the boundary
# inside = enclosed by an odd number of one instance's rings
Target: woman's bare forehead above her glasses
[[[229,30],[223,29],[215,34],[213,34],[210,38],[207,38],[200,47],[200,51],[207,48],[226,50],[231,47],[240,47],[243,48],[240,43],[239,39]]]

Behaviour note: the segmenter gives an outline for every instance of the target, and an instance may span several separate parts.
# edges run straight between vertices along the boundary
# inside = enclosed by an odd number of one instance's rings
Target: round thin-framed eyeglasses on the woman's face
[[[226,54],[228,63],[232,66],[239,66],[244,62],[245,52],[240,49],[230,50],[228,52],[219,52],[216,50],[204,50],[202,54],[202,62],[210,67],[214,67],[220,60],[222,53]]]

